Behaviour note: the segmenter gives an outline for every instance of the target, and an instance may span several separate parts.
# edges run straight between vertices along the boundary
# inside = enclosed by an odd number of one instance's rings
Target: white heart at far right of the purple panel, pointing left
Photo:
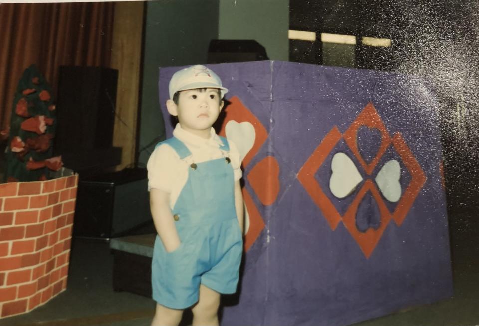
[[[400,177],[401,167],[399,166],[399,162],[391,160],[384,164],[375,178],[379,190],[381,190],[384,197],[390,202],[395,203],[401,198]]]

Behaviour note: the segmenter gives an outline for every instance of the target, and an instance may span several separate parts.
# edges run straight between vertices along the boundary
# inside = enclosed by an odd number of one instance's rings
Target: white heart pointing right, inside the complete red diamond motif
[[[331,161],[331,178],[329,189],[337,198],[344,198],[356,189],[356,186],[363,180],[356,165],[344,153],[336,153]]]

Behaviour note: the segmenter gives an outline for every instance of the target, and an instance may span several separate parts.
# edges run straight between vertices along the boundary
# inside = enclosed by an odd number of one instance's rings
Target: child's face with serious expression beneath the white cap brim
[[[191,89],[178,94],[178,104],[167,101],[168,112],[178,116],[178,121],[184,130],[197,135],[206,135],[215,123],[224,102],[220,102],[218,89]]]

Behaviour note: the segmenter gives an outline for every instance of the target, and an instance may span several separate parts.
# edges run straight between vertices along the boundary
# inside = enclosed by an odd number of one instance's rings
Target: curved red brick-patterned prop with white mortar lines
[[[78,175],[0,184],[0,318],[66,290]]]

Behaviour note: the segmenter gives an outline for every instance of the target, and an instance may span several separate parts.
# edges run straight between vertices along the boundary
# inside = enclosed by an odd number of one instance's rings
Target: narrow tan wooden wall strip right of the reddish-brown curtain
[[[111,67],[118,69],[113,146],[123,148],[116,170],[135,161],[144,2],[116,2]]]

